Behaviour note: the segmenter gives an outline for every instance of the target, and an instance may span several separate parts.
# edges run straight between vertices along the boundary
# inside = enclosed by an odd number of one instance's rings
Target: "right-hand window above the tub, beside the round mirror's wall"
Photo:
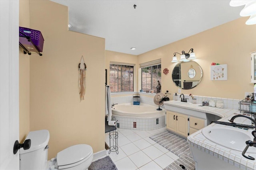
[[[161,64],[141,68],[141,89],[143,91],[154,90],[157,92],[158,80],[161,82]]]

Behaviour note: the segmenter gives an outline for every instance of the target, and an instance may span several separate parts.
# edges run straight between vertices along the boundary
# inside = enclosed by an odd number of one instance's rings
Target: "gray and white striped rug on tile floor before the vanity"
[[[187,170],[195,169],[195,162],[186,139],[167,130],[149,138],[180,157],[164,170],[182,170],[180,165],[184,165]]]

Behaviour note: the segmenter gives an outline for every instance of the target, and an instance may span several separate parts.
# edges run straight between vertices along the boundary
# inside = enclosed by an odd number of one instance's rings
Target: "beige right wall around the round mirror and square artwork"
[[[167,75],[162,74],[162,92],[169,90],[173,94],[178,92],[171,77],[172,69],[176,65],[171,63],[173,53],[181,53],[183,50],[188,52],[190,48],[194,48],[197,57],[194,61],[202,67],[203,78],[197,87],[181,92],[199,96],[243,99],[244,92],[253,92],[253,84],[250,83],[250,52],[256,51],[256,25],[246,25],[247,19],[239,18],[148,51],[138,56],[138,63],[161,58],[162,70],[169,69]],[[210,80],[212,62],[228,64],[228,80]]]

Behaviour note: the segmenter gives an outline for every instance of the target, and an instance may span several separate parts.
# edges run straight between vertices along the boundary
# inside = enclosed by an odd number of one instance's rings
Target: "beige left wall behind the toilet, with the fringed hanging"
[[[29,8],[30,28],[42,32],[44,49],[42,57],[30,56],[30,123],[21,120],[20,124],[30,124],[30,131],[50,131],[49,159],[82,143],[91,145],[94,153],[104,150],[105,39],[68,31],[66,6],[30,0]],[[20,13],[25,10],[21,8]],[[82,55],[87,65],[86,95],[80,102],[78,64]],[[20,75],[20,79],[24,77]],[[29,94],[27,91],[21,93]]]

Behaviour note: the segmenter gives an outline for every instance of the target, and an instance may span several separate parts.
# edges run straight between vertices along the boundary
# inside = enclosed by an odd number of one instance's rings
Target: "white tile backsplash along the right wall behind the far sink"
[[[180,101],[180,94],[178,95],[178,100]],[[193,95],[194,96],[194,95]],[[189,94],[184,94],[184,98],[188,98],[188,102],[192,103],[192,98],[189,96]],[[227,98],[215,98],[215,97],[207,97],[207,96],[194,96],[196,99],[196,104],[202,104],[202,99],[208,99],[210,100],[223,100],[224,102],[224,109],[239,109],[239,101],[237,99],[227,99]],[[174,99],[174,94],[173,94]]]

